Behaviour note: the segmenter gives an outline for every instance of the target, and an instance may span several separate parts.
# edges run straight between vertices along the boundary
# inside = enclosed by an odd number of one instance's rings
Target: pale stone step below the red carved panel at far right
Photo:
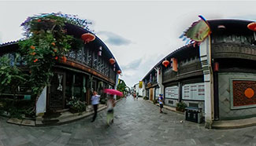
[[[219,130],[237,129],[248,126],[256,126],[256,117],[236,120],[213,121],[212,128]]]

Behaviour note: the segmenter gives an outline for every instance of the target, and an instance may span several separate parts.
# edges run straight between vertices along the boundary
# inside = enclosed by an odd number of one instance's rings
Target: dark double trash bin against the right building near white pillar
[[[191,122],[202,122],[202,108],[187,107],[185,108],[185,119]]]

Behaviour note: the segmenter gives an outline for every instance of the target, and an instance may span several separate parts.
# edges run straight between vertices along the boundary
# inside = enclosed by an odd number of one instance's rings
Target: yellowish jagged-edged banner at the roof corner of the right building
[[[189,27],[182,35],[180,35],[179,38],[183,38],[183,41],[186,41],[186,45],[188,43],[195,45],[200,45],[201,42],[203,42],[211,33],[210,30],[210,24],[207,22],[207,20],[199,15],[200,20],[195,21],[193,24],[191,24],[191,27]]]

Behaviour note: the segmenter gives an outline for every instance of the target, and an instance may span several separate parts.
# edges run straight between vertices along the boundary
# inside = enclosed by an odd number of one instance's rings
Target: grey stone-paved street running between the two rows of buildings
[[[128,97],[117,103],[113,125],[106,126],[106,111],[61,126],[28,127],[6,123],[0,118],[2,145],[209,145],[256,146],[256,126],[236,130],[207,130],[203,124],[180,122],[184,116],[173,111],[165,114],[145,100]]]

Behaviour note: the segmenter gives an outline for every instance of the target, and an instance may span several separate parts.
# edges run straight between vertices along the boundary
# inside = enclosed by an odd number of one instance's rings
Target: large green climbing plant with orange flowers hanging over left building
[[[29,82],[35,102],[43,88],[50,85],[54,75],[53,66],[58,62],[58,58],[66,61],[64,56],[71,49],[72,41],[76,39],[67,35],[64,27],[65,23],[74,24],[76,20],[70,20],[60,13],[51,13],[28,17],[21,24],[27,38],[19,42],[20,53],[31,72]]]

